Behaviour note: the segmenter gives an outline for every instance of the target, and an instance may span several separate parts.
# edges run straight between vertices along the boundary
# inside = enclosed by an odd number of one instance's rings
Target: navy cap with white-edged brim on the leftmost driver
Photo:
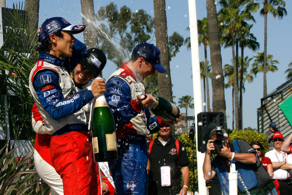
[[[49,35],[59,31],[70,31],[72,34],[81,33],[84,31],[85,26],[85,24],[72,25],[61,17],[49,18],[42,23],[38,40],[42,42],[44,39],[47,39]]]

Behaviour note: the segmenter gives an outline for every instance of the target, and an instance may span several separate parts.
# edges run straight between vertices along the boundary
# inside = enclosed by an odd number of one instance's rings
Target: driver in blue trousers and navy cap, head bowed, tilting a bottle
[[[118,159],[109,162],[117,195],[147,194],[146,136],[166,125],[160,117],[150,117],[154,97],[145,93],[141,83],[155,70],[166,72],[160,63],[160,50],[153,44],[141,43],[133,49],[130,61],[106,82],[105,96],[117,127]]]

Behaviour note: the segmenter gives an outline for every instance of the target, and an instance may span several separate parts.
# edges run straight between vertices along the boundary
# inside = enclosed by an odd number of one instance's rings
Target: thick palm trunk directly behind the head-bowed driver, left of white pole
[[[158,92],[159,96],[172,102],[165,0],[153,0],[153,3],[156,29],[156,46],[160,49],[161,52],[161,64],[167,71],[165,74],[157,75]]]

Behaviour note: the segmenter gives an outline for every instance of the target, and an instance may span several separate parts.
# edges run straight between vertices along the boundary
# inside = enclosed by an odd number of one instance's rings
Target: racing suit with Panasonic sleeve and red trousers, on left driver
[[[97,194],[97,171],[93,160],[86,116],[82,107],[91,91],[76,92],[64,59],[40,52],[30,74],[30,90],[51,139],[51,160],[61,176],[64,195]]]

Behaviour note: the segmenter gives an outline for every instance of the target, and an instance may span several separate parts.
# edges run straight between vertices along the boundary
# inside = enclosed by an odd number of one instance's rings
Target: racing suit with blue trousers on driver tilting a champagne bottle
[[[145,94],[143,84],[123,63],[106,82],[105,94],[117,131],[118,159],[109,162],[117,195],[146,195],[148,188],[146,135],[160,130],[159,117],[141,107],[136,98]]]

